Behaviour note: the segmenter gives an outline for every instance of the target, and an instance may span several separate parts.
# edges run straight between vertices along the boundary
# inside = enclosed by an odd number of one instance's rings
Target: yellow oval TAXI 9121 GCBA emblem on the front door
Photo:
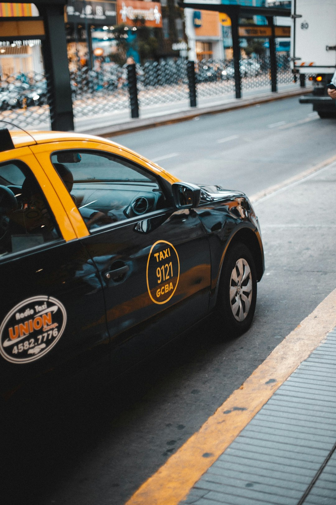
[[[147,288],[155,304],[166,304],[175,293],[180,276],[178,254],[170,242],[158,240],[147,260]]]

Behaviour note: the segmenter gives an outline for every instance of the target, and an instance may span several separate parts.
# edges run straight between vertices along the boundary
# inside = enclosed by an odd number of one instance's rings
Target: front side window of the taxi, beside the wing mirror
[[[124,158],[66,150],[53,153],[51,162],[90,231],[166,206],[156,177]]]

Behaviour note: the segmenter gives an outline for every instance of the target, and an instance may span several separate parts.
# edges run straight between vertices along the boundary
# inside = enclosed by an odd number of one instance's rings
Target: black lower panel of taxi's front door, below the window
[[[131,219],[82,242],[104,286],[113,373],[207,314],[210,248],[194,211]]]

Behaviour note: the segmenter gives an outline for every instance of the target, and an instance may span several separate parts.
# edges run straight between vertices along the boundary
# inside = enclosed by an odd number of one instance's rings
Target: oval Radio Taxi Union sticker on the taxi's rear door
[[[56,298],[34,296],[11,310],[0,326],[0,354],[11,363],[38,360],[60,339],[66,311]]]

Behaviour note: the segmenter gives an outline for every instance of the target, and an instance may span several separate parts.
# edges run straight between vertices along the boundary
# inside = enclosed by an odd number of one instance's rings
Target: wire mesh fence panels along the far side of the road
[[[271,90],[270,58],[244,59],[239,67],[242,92],[257,88]],[[137,64],[135,69],[136,83],[128,82],[130,74],[126,65],[120,67],[113,63],[103,65],[99,71],[83,68],[71,73],[75,119],[89,123],[94,118],[97,123],[118,112],[127,114],[132,106],[130,97],[137,98],[136,108],[141,112],[159,110],[164,105],[173,108],[174,104],[181,103],[195,106],[198,99],[208,98],[210,103],[212,97],[229,98],[235,93],[233,62],[225,60],[198,62],[194,74],[190,73],[190,62],[182,60]],[[289,60],[287,56],[277,55],[277,85],[289,83],[293,83]],[[50,129],[48,104],[50,96],[42,74],[12,75],[1,82],[0,119],[21,128]],[[133,109],[132,117],[137,117],[133,116]]]

